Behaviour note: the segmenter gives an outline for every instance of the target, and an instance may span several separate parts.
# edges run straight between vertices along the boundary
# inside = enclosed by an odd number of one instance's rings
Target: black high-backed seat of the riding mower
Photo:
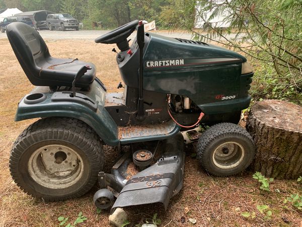
[[[84,65],[92,69],[75,84],[88,87],[96,76],[92,63],[78,59],[55,59],[40,34],[29,25],[14,22],[7,26],[7,36],[24,73],[36,86],[71,86],[74,76]]]

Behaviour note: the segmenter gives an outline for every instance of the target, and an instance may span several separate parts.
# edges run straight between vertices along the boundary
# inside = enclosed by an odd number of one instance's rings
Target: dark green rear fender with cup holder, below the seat
[[[43,98],[37,102],[28,102],[28,97],[35,93],[43,94]],[[94,82],[89,92],[81,91],[82,94],[95,102],[95,108],[89,107],[83,102],[74,101],[72,98],[54,101],[55,93],[62,92],[50,91],[48,87],[33,89],[19,102],[15,121],[49,117],[75,118],[93,128],[105,144],[118,145],[117,125],[104,108],[106,92],[98,84]]]

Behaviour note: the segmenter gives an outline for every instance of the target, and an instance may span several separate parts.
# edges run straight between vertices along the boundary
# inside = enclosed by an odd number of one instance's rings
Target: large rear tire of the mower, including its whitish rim
[[[35,122],[14,143],[10,171],[17,185],[45,201],[82,196],[104,166],[100,138],[84,122],[46,118]]]

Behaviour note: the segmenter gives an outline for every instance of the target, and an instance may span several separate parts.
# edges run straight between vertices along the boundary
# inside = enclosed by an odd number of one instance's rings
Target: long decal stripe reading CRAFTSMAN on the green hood
[[[178,67],[178,66],[194,66],[203,64],[218,64],[218,63],[241,63],[241,59],[234,58],[211,58],[211,59],[168,59],[145,61],[146,69]]]

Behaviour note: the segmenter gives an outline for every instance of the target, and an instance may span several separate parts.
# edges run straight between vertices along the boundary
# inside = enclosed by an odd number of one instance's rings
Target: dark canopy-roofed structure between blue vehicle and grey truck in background
[[[39,30],[39,29],[48,29],[48,26],[46,23],[46,17],[48,14],[53,14],[53,12],[50,12],[47,10],[29,11],[29,12],[23,12],[20,14],[16,14],[15,16],[29,17],[34,23],[34,28]]]

